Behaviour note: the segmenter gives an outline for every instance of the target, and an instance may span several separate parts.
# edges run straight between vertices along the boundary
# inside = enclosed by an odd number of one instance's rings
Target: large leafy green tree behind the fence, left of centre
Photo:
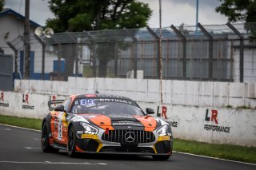
[[[49,7],[55,18],[48,19],[46,25],[55,32],[136,29],[145,27],[152,14],[148,4],[137,0],[50,0]],[[95,53],[99,77],[106,77],[106,65],[114,58],[114,45],[108,48],[98,45]]]

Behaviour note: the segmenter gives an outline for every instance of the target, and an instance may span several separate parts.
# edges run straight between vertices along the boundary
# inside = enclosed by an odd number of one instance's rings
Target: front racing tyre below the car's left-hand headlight
[[[68,144],[67,144],[67,154],[70,157],[76,157],[77,152],[75,152],[75,134],[74,134],[74,126],[71,125],[68,132]]]

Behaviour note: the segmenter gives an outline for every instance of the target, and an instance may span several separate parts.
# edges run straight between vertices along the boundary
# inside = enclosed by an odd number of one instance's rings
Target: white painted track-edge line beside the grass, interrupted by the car
[[[0,125],[4,125],[4,124],[0,124]],[[12,126],[12,125],[4,125],[4,126],[9,126],[9,127],[13,127],[13,128],[21,128],[21,127]],[[31,129],[31,128],[22,128],[22,129],[41,132],[41,130],[34,130],[34,129]],[[256,164],[251,164],[251,163],[246,163],[246,162],[241,162],[241,161],[236,161],[236,160],[226,160],[226,159],[222,159],[222,158],[210,157],[210,156],[201,156],[201,155],[196,155],[196,154],[186,153],[186,152],[177,152],[177,151],[173,151],[173,152],[174,153],[181,153],[181,154],[184,154],[184,155],[190,155],[190,156],[205,157],[205,158],[209,158],[209,159],[213,159],[213,160],[223,160],[223,161],[234,162],[234,163],[238,163],[238,164],[250,164],[250,165],[256,166]]]

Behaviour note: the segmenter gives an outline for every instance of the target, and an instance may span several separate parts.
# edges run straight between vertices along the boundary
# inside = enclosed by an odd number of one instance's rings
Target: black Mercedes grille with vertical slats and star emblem
[[[102,140],[121,144],[139,144],[154,142],[153,132],[142,130],[110,130],[102,135]]]

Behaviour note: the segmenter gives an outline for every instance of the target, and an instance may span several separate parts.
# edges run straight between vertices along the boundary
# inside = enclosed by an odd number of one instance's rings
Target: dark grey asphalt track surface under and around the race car
[[[40,148],[41,132],[0,125],[1,170],[66,169],[256,169],[255,165],[202,156],[174,153],[169,160],[154,161],[150,156],[85,155],[70,158],[66,152],[44,153]]]

